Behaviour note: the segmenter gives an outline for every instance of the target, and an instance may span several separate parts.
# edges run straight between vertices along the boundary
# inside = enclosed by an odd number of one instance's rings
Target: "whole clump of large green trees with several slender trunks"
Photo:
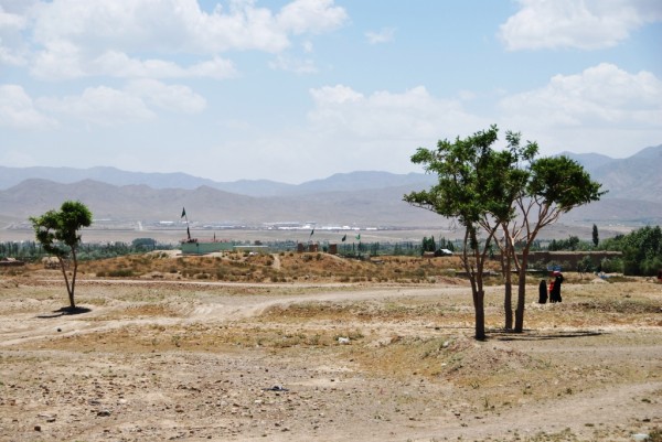
[[[526,257],[537,233],[560,214],[604,194],[577,162],[563,155],[537,158],[537,143],[522,143],[517,132],[506,132],[505,149],[493,149],[498,133],[493,125],[453,142],[440,140],[436,150],[418,148],[412,162],[437,174],[438,181],[429,190],[404,196],[409,204],[456,218],[465,227],[462,257],[472,288],[477,338],[484,337],[482,269],[498,229],[503,231],[500,247],[508,266],[514,260],[519,273],[515,331],[522,331]],[[521,259],[516,242],[524,245]],[[509,304],[509,293],[506,299]]]

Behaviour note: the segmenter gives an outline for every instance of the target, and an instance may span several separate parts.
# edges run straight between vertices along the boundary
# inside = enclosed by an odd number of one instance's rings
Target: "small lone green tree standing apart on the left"
[[[75,310],[74,291],[76,289],[76,274],[78,271],[78,259],[76,251],[81,244],[78,230],[89,227],[92,213],[81,202],[65,201],[60,211],[51,209],[42,216],[31,217],[30,222],[34,228],[36,240],[44,250],[54,255],[60,261],[60,268],[66,283],[70,299],[70,309]],[[73,261],[72,279],[70,281],[66,272],[65,259],[71,255]]]

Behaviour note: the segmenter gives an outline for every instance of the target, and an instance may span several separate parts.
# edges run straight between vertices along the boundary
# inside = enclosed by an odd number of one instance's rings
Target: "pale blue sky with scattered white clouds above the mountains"
[[[0,165],[299,184],[662,144],[660,0],[0,0]]]

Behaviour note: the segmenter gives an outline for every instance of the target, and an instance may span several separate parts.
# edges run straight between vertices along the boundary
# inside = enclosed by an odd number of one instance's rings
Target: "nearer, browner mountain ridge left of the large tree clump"
[[[28,180],[0,191],[2,214],[17,220],[57,208],[65,200],[85,203],[95,219],[180,220],[182,207],[194,223],[261,225],[276,222],[318,222],[373,226],[439,224],[438,216],[402,201],[408,188],[328,192],[303,196],[253,197],[209,186],[195,190],[146,185],[114,186],[92,180],[60,184]]]

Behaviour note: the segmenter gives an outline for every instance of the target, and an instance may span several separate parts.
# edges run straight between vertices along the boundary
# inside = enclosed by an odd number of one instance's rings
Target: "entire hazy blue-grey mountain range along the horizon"
[[[626,159],[563,154],[579,162],[608,193],[562,217],[565,224],[662,224],[662,144]],[[359,171],[286,184],[268,180],[215,182],[185,173],[115,168],[0,166],[0,225],[24,222],[64,200],[78,200],[96,219],[191,220],[215,225],[311,222],[324,225],[436,226],[439,216],[412,207],[403,195],[435,183],[424,173]]]

